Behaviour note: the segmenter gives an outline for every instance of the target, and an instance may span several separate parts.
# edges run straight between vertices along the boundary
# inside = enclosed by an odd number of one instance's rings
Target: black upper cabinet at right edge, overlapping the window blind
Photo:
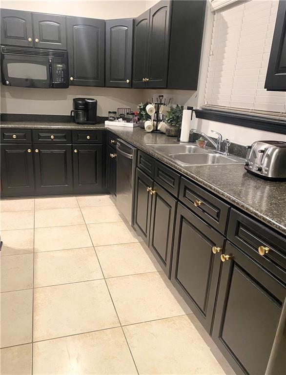
[[[286,91],[286,1],[280,0],[266,74],[265,88]]]

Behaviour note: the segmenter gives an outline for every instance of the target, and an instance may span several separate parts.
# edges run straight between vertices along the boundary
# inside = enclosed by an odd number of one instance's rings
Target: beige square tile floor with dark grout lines
[[[233,374],[108,195],[2,200],[1,374]]]

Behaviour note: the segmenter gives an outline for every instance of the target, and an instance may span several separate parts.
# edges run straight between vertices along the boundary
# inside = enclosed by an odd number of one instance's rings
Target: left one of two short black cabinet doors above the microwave
[[[30,12],[1,9],[1,44],[33,47]]]

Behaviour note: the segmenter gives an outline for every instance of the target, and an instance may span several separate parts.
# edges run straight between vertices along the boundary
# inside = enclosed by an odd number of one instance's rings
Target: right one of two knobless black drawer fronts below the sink
[[[155,181],[175,195],[179,194],[180,175],[162,163],[155,163]]]

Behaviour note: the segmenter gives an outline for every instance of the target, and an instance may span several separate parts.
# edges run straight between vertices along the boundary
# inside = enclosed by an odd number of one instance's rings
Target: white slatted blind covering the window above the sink
[[[204,108],[286,120],[286,93],[264,88],[277,8],[250,0],[215,12]]]

